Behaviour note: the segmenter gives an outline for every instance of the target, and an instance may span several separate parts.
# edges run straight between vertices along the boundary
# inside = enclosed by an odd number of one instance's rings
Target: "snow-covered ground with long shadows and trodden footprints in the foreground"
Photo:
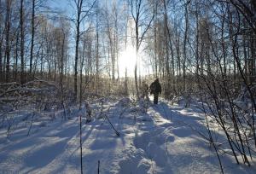
[[[162,101],[134,106],[123,99],[106,100],[103,106],[100,114],[101,105],[93,103],[97,119],[83,120],[84,173],[97,173],[98,161],[100,173],[221,172],[214,148],[202,136],[207,136],[205,116],[196,105],[183,108]],[[61,113],[50,115],[35,116],[29,136],[31,122],[23,119],[9,138],[6,128],[0,130],[0,173],[80,173],[79,113],[73,111],[67,120]],[[256,171],[255,162],[236,165],[229,154],[221,160],[225,173]]]

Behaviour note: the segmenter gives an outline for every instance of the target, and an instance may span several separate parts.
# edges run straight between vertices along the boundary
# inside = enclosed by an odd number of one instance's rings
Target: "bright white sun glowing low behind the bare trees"
[[[120,52],[120,56],[119,56],[120,76],[125,77],[125,68],[127,68],[127,76],[129,77],[133,76],[135,63],[136,63],[136,49],[132,46],[128,46],[125,50]]]

